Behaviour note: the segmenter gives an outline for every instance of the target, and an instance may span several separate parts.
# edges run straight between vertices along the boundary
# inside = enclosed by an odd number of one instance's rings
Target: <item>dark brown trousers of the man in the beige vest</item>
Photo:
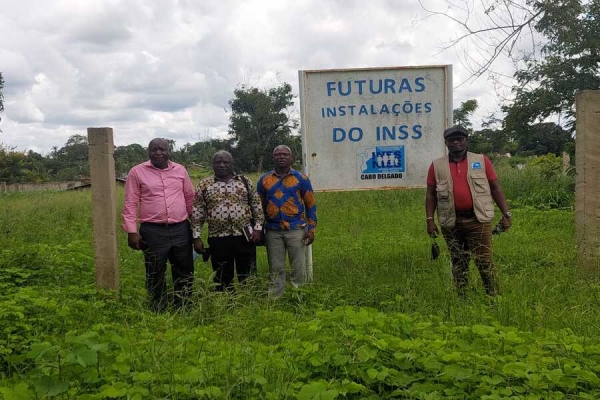
[[[475,217],[456,218],[454,228],[442,228],[452,259],[452,276],[459,294],[465,294],[469,284],[471,256],[488,295],[500,292],[498,271],[492,261],[492,224],[481,223]]]

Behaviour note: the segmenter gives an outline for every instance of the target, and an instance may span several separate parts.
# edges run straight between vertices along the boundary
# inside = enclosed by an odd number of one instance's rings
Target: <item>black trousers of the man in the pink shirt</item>
[[[167,261],[171,264],[174,286],[174,305],[180,307],[192,293],[194,260],[192,231],[188,220],[177,224],[143,222],[140,236],[148,244],[144,250],[146,289],[152,307],[163,310],[168,303],[165,273]]]

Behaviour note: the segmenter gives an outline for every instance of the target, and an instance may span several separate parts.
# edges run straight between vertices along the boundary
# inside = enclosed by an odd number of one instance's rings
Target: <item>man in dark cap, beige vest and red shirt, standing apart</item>
[[[452,259],[452,275],[459,294],[468,286],[471,256],[488,295],[499,292],[498,272],[492,261],[492,219],[494,203],[502,217],[499,229],[511,226],[504,193],[490,160],[467,151],[468,132],[461,126],[444,131],[448,155],[434,160],[427,174],[427,233],[435,237],[438,228],[434,213]]]

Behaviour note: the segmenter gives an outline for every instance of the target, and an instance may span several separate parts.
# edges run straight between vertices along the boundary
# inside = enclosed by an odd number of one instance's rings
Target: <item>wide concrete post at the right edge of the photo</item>
[[[576,96],[575,232],[581,276],[600,278],[600,91]]]

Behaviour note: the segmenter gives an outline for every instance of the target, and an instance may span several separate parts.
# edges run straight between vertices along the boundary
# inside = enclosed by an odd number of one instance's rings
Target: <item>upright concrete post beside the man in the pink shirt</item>
[[[92,213],[96,251],[96,286],[119,288],[117,202],[112,128],[88,128]]]

